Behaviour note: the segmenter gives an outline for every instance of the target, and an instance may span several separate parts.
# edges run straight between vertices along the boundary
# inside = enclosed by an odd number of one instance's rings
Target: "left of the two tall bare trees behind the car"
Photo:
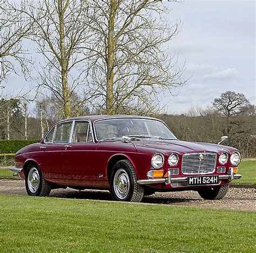
[[[31,40],[44,57],[38,73],[40,86],[48,88],[62,103],[65,118],[71,117],[71,96],[84,84],[85,44],[89,8],[85,0],[23,0],[14,9],[33,20]],[[93,16],[93,15],[92,15]],[[81,101],[78,99],[76,104]]]

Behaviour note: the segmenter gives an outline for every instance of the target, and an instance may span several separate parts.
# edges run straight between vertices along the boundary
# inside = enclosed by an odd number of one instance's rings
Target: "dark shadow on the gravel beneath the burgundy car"
[[[112,197],[109,191],[77,191],[72,189],[56,189],[53,190],[50,194],[52,198],[68,198],[68,199],[89,199],[89,200],[108,200],[112,201]],[[200,200],[196,198],[176,198],[173,196],[164,196],[164,195],[151,195],[144,196],[142,199],[142,203],[156,203],[156,204],[170,204],[170,203],[181,203],[181,202],[193,202],[196,200]]]

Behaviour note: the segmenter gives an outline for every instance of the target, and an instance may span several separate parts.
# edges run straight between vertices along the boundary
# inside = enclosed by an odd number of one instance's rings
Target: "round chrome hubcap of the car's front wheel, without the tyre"
[[[119,168],[114,174],[114,193],[119,199],[125,199],[129,193],[130,180],[125,170]]]

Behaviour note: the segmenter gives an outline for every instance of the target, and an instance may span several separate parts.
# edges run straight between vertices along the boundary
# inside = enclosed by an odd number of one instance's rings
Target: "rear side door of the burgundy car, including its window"
[[[70,141],[73,121],[57,124],[39,146],[39,164],[44,177],[51,182],[63,184],[63,151]]]

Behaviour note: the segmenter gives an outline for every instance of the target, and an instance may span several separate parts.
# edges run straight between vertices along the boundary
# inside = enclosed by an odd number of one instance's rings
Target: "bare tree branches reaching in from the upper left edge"
[[[23,39],[31,31],[30,19],[23,13],[11,10],[7,1],[0,0],[0,87],[9,74],[19,74],[19,69],[25,78],[29,76],[28,51],[22,45]]]

